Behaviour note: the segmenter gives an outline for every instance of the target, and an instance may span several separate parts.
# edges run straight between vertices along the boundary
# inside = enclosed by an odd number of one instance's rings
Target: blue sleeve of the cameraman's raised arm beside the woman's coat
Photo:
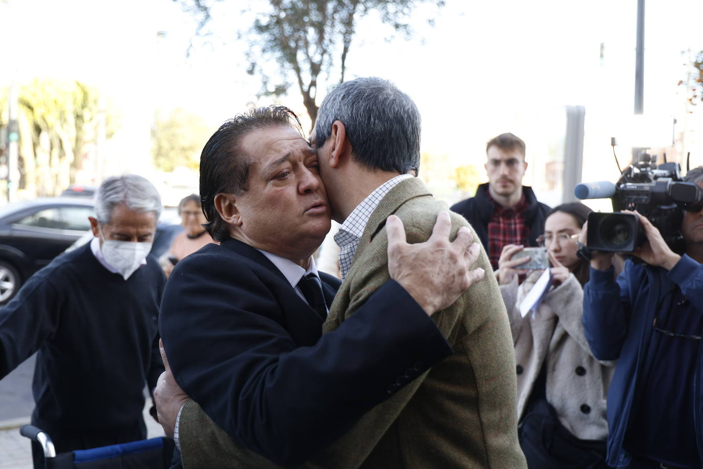
[[[593,356],[598,360],[617,360],[627,337],[631,318],[631,276],[637,276],[633,264],[613,279],[607,271],[591,268],[590,280],[583,287],[583,331]],[[641,280],[641,278],[640,278]]]

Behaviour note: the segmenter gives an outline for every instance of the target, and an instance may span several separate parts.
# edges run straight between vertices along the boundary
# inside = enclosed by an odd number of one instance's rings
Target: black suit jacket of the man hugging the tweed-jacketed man
[[[321,274],[329,303],[340,281]],[[420,352],[452,353],[432,319],[387,281],[322,337],[322,319],[258,250],[207,245],[172,272],[161,336],[177,383],[240,444],[272,461],[307,460],[390,397]]]

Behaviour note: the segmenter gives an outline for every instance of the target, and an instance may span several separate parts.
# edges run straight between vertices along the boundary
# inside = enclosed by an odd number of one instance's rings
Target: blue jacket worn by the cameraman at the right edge
[[[652,364],[654,314],[663,295],[677,283],[691,304],[703,314],[703,264],[684,255],[671,271],[660,267],[625,263],[613,280],[612,269],[591,269],[583,287],[583,327],[595,358],[616,360],[617,366],[607,399],[607,463],[615,466],[623,456],[623,442],[633,406],[640,370]],[[703,347],[699,348],[693,409],[698,454],[703,454]],[[703,467],[703,466],[702,466]]]

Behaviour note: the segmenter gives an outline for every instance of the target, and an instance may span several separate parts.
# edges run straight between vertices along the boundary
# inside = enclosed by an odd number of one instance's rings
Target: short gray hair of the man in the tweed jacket
[[[401,174],[420,167],[420,111],[407,94],[378,77],[344,82],[328,94],[315,122],[316,146],[339,120],[354,160],[369,169]]]

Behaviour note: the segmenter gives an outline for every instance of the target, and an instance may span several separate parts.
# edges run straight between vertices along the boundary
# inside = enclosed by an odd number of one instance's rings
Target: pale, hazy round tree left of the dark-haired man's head
[[[202,117],[176,108],[157,113],[151,128],[151,153],[154,165],[165,172],[179,166],[198,169],[200,152],[212,134]]]

